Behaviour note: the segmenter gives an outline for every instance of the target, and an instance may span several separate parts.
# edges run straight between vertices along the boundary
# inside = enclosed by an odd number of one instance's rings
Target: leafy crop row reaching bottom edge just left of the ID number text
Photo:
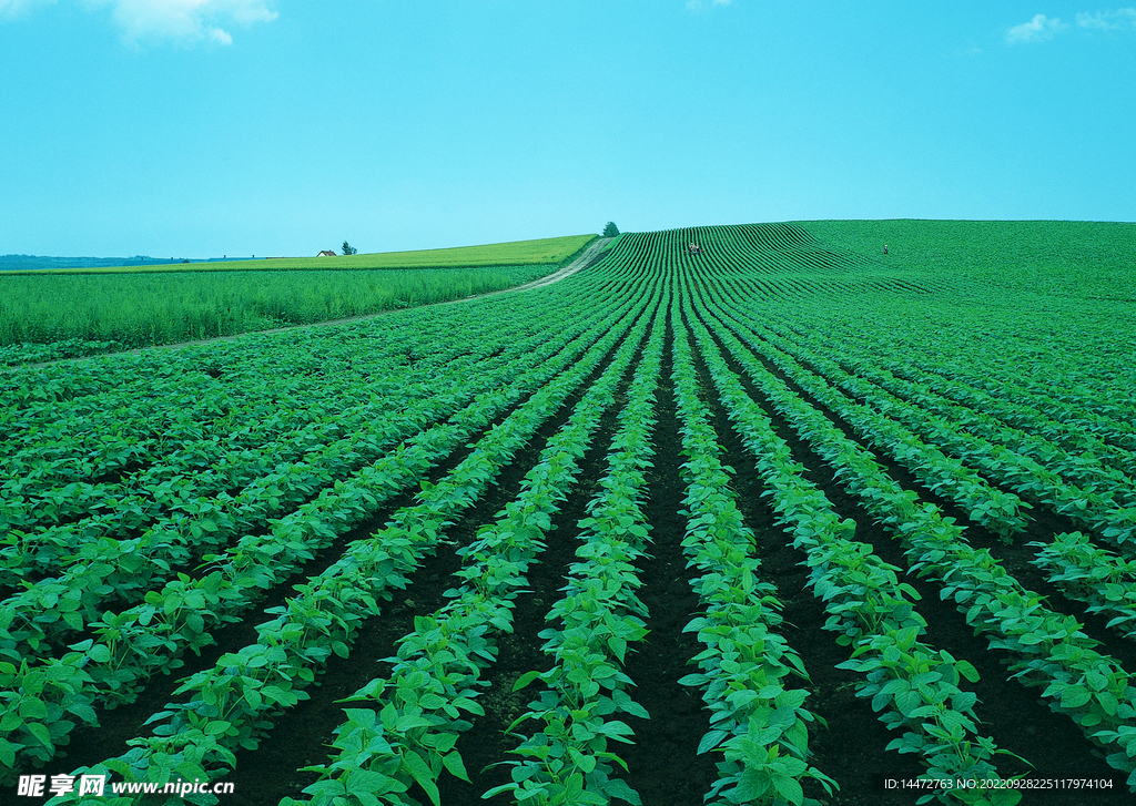
[[[753,534],[742,521],[721,448],[699,400],[690,344],[676,316],[674,384],[682,419],[683,467],[688,520],[683,546],[702,574],[692,585],[705,613],[696,630],[705,650],[693,658],[702,670],[682,682],[703,688],[711,730],[699,752],[720,752],[719,778],[710,790],[715,804],[800,804],[802,779],[832,791],[835,782],[809,766],[809,724],[818,719],[804,707],[808,692],[790,686],[808,680],[804,664],[777,633],[782,622],[776,588],[759,581]]]

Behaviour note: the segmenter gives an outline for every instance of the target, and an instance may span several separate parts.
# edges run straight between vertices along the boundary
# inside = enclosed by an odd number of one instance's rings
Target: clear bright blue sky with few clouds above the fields
[[[1133,221],[1134,121],[1087,0],[0,0],[0,254]]]

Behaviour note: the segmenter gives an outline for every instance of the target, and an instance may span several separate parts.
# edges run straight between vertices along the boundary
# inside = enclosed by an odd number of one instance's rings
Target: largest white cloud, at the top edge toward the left
[[[232,44],[222,25],[251,25],[276,19],[272,0],[87,0],[110,6],[110,17],[128,42],[176,40],[185,43]]]

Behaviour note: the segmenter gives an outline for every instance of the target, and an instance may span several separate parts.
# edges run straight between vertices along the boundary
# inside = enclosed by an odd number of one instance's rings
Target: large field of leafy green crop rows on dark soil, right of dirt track
[[[11,368],[0,788],[1130,805],[1134,250],[625,233],[532,291]]]

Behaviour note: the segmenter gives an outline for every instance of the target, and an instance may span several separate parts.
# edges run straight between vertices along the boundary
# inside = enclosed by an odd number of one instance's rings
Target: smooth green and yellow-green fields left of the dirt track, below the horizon
[[[550,274],[595,235],[139,269],[0,274],[0,364],[308,325],[459,300]],[[202,268],[208,267],[208,268]]]

